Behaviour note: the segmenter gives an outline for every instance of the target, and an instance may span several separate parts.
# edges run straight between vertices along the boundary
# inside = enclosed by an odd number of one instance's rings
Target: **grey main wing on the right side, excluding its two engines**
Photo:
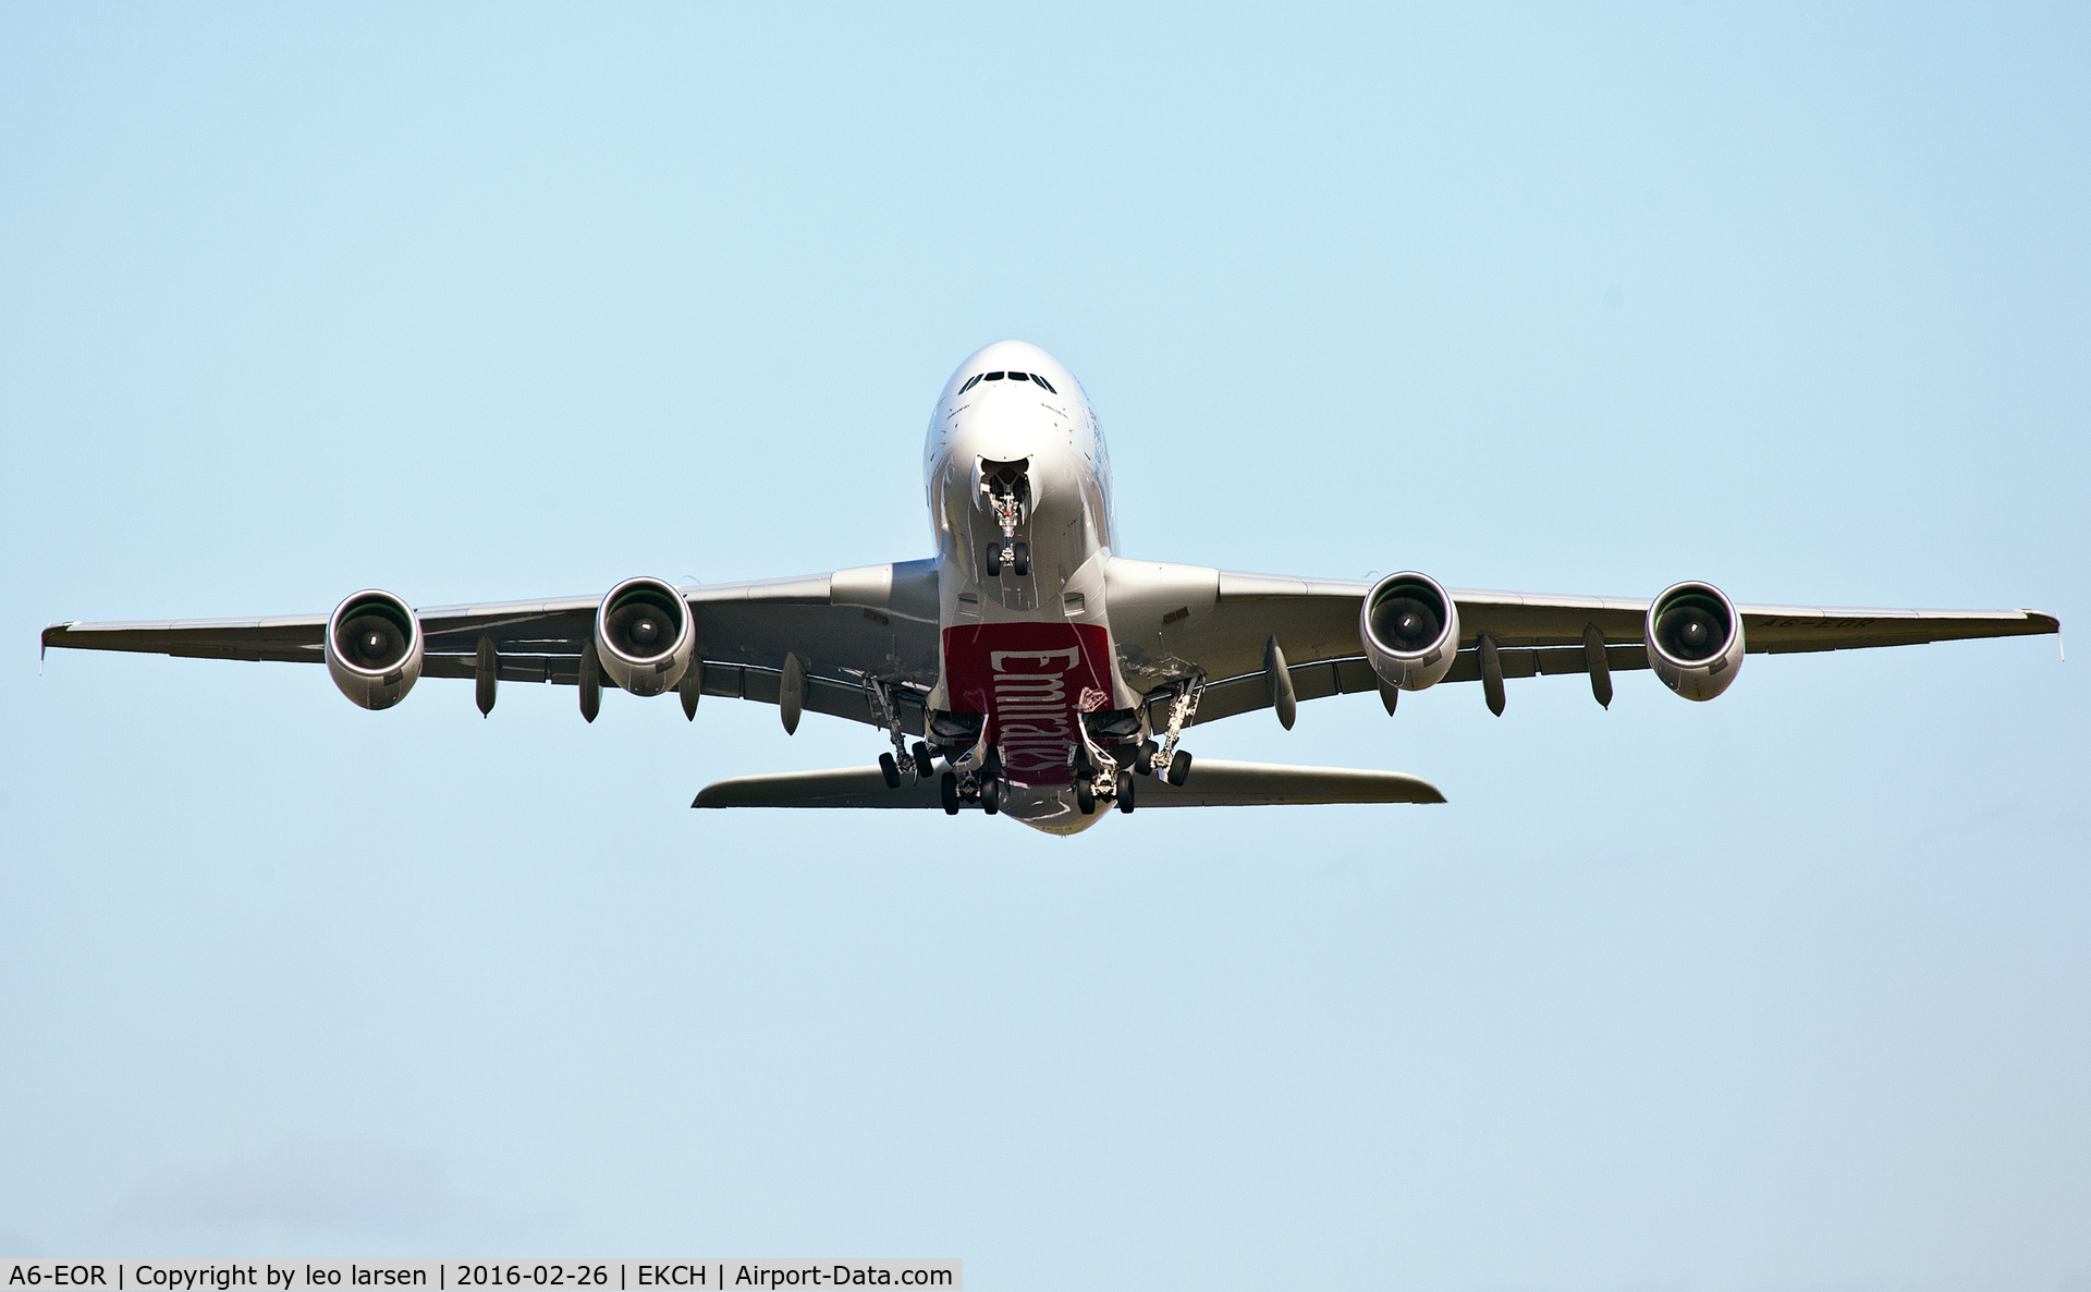
[[[1158,688],[1204,673],[1207,688],[1196,715],[1200,723],[1271,707],[1263,648],[1273,636],[1299,700],[1378,692],[1378,677],[1357,633],[1359,608],[1372,583],[1240,575],[1123,558],[1112,558],[1104,577],[1127,679]],[[1480,679],[1474,642],[1483,633],[1497,644],[1503,677],[1585,673],[1585,627],[1604,633],[1612,671],[1648,667],[1641,640],[1648,598],[1449,592],[1460,606],[1462,648],[1445,682]],[[1750,654],[1917,646],[2062,629],[2053,615],[2039,610],[1736,608],[1742,613],[1744,648]],[[1163,709],[1156,707],[1158,713]]]

